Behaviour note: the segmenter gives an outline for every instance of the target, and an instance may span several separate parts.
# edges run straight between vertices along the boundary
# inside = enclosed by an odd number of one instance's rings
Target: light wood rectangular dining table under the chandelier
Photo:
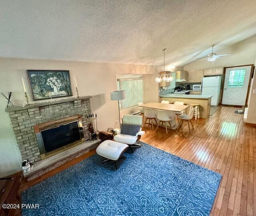
[[[140,107],[146,107],[151,108],[151,110],[156,115],[156,110],[165,110],[171,120],[172,129],[176,130],[178,128],[178,124],[176,124],[175,121],[175,113],[176,112],[182,112],[183,110],[186,110],[188,108],[188,105],[176,105],[176,104],[161,104],[161,103],[155,103],[155,102],[148,102],[146,104],[140,105]],[[156,118],[156,121],[159,122],[159,120]]]

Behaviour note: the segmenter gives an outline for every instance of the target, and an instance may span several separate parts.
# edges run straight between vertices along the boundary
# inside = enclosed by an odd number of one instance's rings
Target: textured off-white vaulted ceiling
[[[256,34],[255,0],[1,0],[0,56],[183,66]],[[221,54],[221,53],[220,53]]]

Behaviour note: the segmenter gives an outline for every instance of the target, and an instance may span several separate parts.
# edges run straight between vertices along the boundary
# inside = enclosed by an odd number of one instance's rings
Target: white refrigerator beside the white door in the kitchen
[[[213,95],[211,106],[218,106],[220,102],[221,76],[208,76],[202,79],[201,94]]]

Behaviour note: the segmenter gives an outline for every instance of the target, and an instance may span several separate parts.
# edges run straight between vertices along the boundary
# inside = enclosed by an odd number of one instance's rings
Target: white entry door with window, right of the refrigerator
[[[226,68],[222,104],[244,106],[252,66]]]

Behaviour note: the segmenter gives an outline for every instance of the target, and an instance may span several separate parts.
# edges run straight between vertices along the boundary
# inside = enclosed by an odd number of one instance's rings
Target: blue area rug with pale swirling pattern
[[[142,142],[141,142],[142,143]],[[90,158],[22,193],[22,215],[209,215],[221,175],[142,143],[118,170]]]

